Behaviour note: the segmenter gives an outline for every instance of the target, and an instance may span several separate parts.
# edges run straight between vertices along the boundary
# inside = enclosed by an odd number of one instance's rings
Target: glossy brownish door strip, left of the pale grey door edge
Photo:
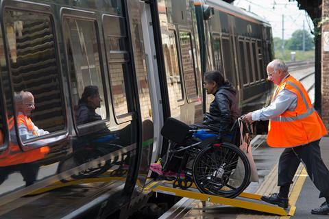
[[[137,183],[132,194],[130,207],[138,205],[138,198],[145,185],[149,164],[151,164],[152,148],[154,145],[154,116],[151,102],[150,77],[148,74],[147,56],[145,54],[145,42],[143,36],[142,17],[145,3],[134,0],[127,1],[127,14],[130,24],[130,36],[132,39],[132,50],[134,55],[134,69],[136,71],[135,82],[138,90],[138,106],[141,116],[141,126],[138,144],[138,162],[136,163]]]

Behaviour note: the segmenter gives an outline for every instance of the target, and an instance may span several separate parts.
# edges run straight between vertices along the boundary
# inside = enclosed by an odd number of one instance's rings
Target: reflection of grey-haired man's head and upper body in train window
[[[28,140],[29,138],[35,138],[36,136],[43,136],[48,134],[48,131],[39,129],[32,123],[31,111],[36,107],[34,106],[34,96],[31,92],[21,91],[14,94],[17,107],[17,125],[19,127],[19,136],[21,140]]]

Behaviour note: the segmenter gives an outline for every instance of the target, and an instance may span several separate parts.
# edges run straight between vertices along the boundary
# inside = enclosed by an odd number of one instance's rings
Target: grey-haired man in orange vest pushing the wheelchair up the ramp
[[[290,184],[302,162],[320,191],[319,197],[326,198],[326,202],[312,209],[311,213],[329,214],[329,171],[321,159],[319,148],[321,137],[327,134],[326,127],[313,108],[304,86],[289,75],[288,67],[282,60],[273,60],[266,70],[269,81],[277,85],[271,104],[243,117],[248,123],[269,120],[267,144],[285,148],[279,159],[280,192],[263,196],[262,200],[287,208]]]

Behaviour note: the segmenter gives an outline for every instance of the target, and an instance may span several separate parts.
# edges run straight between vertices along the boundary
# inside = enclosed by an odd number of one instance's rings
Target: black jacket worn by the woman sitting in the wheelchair
[[[215,99],[210,103],[209,113],[204,115],[202,124],[223,136],[230,131],[239,114],[236,90],[230,83],[226,83],[215,93]]]

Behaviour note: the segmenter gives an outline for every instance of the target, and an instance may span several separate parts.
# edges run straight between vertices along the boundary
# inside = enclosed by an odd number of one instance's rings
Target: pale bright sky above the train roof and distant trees
[[[289,0],[235,0],[239,8],[249,10],[265,18],[272,26],[273,37],[282,38],[282,14],[284,15],[284,40],[291,38],[293,31],[303,29],[310,32],[313,23],[305,10],[299,10],[297,1]]]

